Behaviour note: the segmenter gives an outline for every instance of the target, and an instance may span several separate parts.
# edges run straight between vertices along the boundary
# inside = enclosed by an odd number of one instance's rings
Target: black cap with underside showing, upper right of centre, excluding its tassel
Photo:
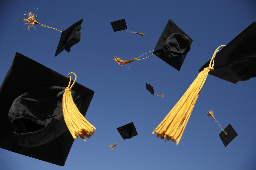
[[[153,54],[178,71],[190,50],[192,39],[169,20],[160,36]]]

